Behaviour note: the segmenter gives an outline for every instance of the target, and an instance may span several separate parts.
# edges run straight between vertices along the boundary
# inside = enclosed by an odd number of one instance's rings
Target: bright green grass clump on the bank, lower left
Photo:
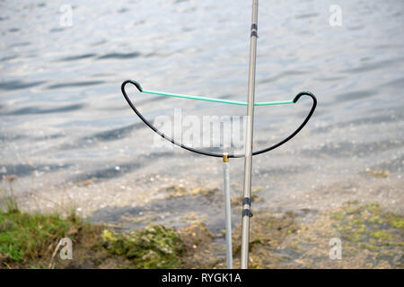
[[[16,177],[4,179],[8,189],[0,190],[0,265],[38,261],[51,253],[60,239],[74,239],[76,230],[85,226],[75,213],[63,219],[58,214],[20,212],[13,193]]]

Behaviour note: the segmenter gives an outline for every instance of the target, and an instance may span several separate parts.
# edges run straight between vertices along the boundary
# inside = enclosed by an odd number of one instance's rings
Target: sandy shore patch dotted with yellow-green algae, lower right
[[[324,212],[302,226],[298,235],[285,240],[301,249],[294,267],[316,268],[403,268],[404,216],[386,211],[381,204],[350,201]],[[329,258],[329,240],[342,242],[342,258]]]

